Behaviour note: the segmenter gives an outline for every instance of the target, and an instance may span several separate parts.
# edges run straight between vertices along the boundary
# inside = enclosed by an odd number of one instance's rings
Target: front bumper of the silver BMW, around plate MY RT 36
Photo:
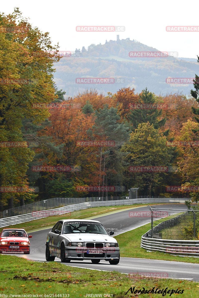
[[[88,251],[102,251],[102,253],[90,254]],[[65,247],[65,256],[70,260],[118,260],[120,249],[118,247],[107,247],[102,249],[88,249],[88,248],[77,248],[77,247]]]

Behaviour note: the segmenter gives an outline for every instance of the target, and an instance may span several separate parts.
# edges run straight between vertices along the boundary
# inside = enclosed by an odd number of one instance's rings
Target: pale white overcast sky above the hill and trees
[[[178,57],[197,58],[199,32],[166,32],[166,26],[198,26],[198,1],[130,0],[9,0],[1,1],[0,11],[12,13],[19,7],[33,27],[50,32],[60,50],[74,51],[106,39],[129,37],[160,51],[178,52]],[[117,32],[76,32],[76,26],[124,26]]]

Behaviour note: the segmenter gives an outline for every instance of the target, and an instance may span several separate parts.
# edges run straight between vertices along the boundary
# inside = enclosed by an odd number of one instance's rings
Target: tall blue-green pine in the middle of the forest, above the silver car
[[[114,176],[115,179],[112,177],[112,182],[115,180],[115,183],[118,181],[121,183],[121,154],[118,149],[128,139],[129,128],[125,123],[121,123],[116,108],[108,108],[106,105],[103,109],[100,108],[95,111],[95,116],[95,124],[88,131],[88,134],[94,140],[104,141],[104,145],[98,147],[99,168],[96,169],[98,186],[107,185],[107,173],[112,173]],[[113,146],[107,146],[106,141],[113,141]],[[100,196],[100,191],[98,196]],[[102,196],[104,196],[104,192],[102,192]]]

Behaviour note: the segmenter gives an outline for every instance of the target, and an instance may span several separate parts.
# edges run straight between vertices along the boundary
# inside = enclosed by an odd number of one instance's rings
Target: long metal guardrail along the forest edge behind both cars
[[[68,212],[87,209],[97,206],[117,206],[117,205],[132,205],[132,204],[149,204],[149,203],[184,203],[189,199],[183,198],[139,198],[139,199],[127,199],[116,201],[97,201],[97,202],[85,202],[81,204],[68,205],[56,209],[36,211],[28,214],[22,214],[7,218],[0,219],[0,227],[5,227],[14,224],[21,224],[27,221],[36,220],[39,218],[45,218],[52,215],[62,215]]]

